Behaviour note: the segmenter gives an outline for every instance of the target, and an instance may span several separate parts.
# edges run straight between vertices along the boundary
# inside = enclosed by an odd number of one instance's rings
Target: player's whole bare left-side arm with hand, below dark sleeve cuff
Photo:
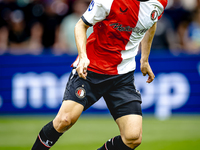
[[[79,64],[76,68],[76,71],[78,72],[79,77],[83,79],[86,79],[87,77],[87,67],[90,63],[86,53],[86,31],[88,28],[89,26],[87,26],[82,19],[80,19],[74,29],[76,46],[79,54]]]

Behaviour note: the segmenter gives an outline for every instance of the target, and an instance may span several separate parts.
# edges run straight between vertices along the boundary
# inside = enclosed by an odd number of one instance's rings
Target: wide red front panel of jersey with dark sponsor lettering
[[[94,32],[87,40],[88,70],[100,74],[118,74],[121,51],[129,42],[132,28],[137,25],[140,2],[114,0],[110,14],[94,25]]]

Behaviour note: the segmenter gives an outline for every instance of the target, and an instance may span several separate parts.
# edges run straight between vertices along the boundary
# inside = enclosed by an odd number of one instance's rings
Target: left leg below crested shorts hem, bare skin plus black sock
[[[55,119],[40,131],[32,150],[48,150],[59,137],[78,120],[84,106],[75,101],[64,100]]]

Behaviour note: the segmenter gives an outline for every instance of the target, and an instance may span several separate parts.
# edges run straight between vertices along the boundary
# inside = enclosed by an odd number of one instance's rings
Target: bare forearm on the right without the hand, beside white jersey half
[[[140,62],[148,62],[149,54],[151,50],[151,44],[156,31],[157,24],[155,23],[145,34],[141,42],[141,60]]]

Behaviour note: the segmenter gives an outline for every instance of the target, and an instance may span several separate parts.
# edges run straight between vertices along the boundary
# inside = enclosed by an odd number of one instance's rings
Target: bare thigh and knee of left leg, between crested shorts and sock
[[[63,132],[69,129],[80,117],[84,106],[72,100],[64,100],[53,120],[55,129]]]

